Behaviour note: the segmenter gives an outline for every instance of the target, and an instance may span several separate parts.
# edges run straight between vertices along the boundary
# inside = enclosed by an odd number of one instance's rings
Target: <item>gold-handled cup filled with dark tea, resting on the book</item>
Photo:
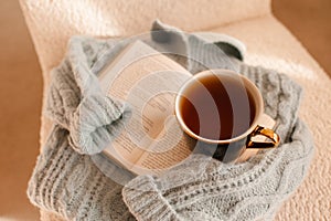
[[[200,149],[213,149],[224,162],[236,160],[246,148],[275,148],[279,136],[258,125],[264,114],[260,92],[247,77],[228,70],[207,70],[192,76],[175,98],[181,128]],[[254,137],[265,136],[266,141]]]

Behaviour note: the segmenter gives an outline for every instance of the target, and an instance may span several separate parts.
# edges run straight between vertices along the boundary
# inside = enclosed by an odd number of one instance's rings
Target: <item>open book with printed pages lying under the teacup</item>
[[[159,173],[189,157],[195,140],[180,128],[174,99],[191,76],[183,66],[141,41],[122,50],[102,71],[99,81],[106,94],[131,106],[132,117],[104,154],[137,175]],[[261,125],[275,125],[270,117],[265,118]],[[255,151],[243,155],[243,160]]]

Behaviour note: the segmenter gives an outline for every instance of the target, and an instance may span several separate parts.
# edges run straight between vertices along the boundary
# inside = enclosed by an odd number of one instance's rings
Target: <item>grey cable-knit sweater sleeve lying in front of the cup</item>
[[[192,155],[161,176],[131,180],[122,189],[124,201],[138,220],[273,217],[303,180],[313,152],[311,134],[300,119],[291,138],[238,165]]]

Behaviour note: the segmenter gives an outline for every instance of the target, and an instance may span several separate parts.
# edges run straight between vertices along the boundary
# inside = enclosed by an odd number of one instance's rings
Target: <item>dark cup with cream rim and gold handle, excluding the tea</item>
[[[209,77],[210,75],[216,75],[217,77],[220,77],[221,82],[223,78],[226,77],[232,77],[235,81],[239,81],[241,85],[243,85],[250,93],[254,107],[255,107],[255,114],[248,129],[245,130],[244,133],[231,137],[228,139],[211,139],[211,138],[203,137],[199,134],[195,134],[183,120],[183,112],[182,112],[183,97],[190,96],[188,92],[190,90],[192,91],[192,88],[194,88],[194,86],[196,86],[196,84],[199,84],[201,80],[203,80],[204,77]],[[206,106],[205,108],[209,107]],[[263,114],[264,114],[264,102],[259,90],[254,85],[253,82],[250,82],[244,75],[228,70],[207,70],[193,75],[188,82],[185,82],[182,85],[175,98],[175,116],[181,128],[190,137],[203,144],[204,148],[209,148],[209,146],[216,146],[213,157],[225,162],[236,160],[241,156],[241,154],[245,150],[245,148],[264,149],[264,148],[274,148],[278,146],[280,140],[279,136],[273,129],[265,128],[258,125],[258,122],[261,118]],[[236,120],[234,119],[234,122]],[[227,125],[222,125],[222,127],[226,127],[226,126]],[[257,135],[265,136],[269,138],[269,140],[254,141],[253,137]]]

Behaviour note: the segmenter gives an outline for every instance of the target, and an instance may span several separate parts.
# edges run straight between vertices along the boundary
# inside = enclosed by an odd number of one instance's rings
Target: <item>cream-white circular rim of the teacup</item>
[[[252,123],[252,125],[249,126],[249,128],[236,136],[236,137],[233,137],[233,138],[229,138],[229,139],[210,139],[210,138],[205,138],[205,137],[201,137],[199,135],[196,135],[195,133],[193,133],[188,126],[186,124],[184,123],[183,118],[182,118],[182,115],[180,114],[180,101],[181,101],[181,95],[183,94],[183,92],[185,91],[185,88],[192,83],[194,82],[195,80],[197,78],[201,78],[205,75],[210,75],[210,74],[215,74],[215,75],[237,75],[238,77],[241,77],[244,83],[245,83],[245,87],[247,87],[250,93],[253,94],[254,96],[254,99],[256,99],[257,104],[256,104],[256,116],[254,118],[254,122]],[[200,72],[195,75],[193,75],[192,77],[190,77],[179,90],[177,96],[175,96],[175,104],[174,104],[174,114],[175,114],[175,118],[179,122],[180,126],[182,127],[182,129],[192,138],[194,139],[197,139],[197,140],[201,140],[201,141],[204,141],[204,143],[209,143],[209,144],[229,144],[229,143],[233,143],[233,141],[237,141],[237,140],[241,140],[245,137],[247,137],[255,128],[256,126],[258,125],[258,122],[259,122],[259,118],[261,117],[264,113],[264,102],[263,102],[263,97],[261,97],[261,94],[259,92],[259,90],[255,86],[255,84],[248,80],[246,76],[239,74],[239,73],[236,73],[234,71],[231,71],[231,70],[224,70],[224,69],[215,69],[215,70],[206,70],[206,71],[203,71],[203,72]]]

